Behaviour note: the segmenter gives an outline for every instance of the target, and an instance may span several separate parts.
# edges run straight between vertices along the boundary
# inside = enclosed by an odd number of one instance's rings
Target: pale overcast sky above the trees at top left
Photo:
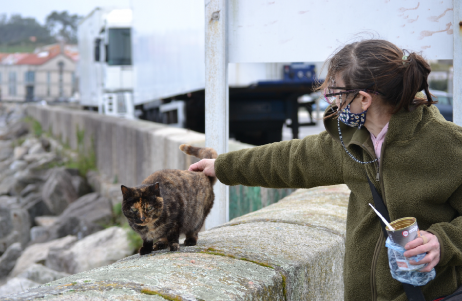
[[[146,0],[149,1],[149,0]],[[45,24],[45,18],[52,11],[67,10],[70,14],[86,16],[95,7],[130,7],[131,0],[4,0],[0,5],[0,14],[21,14],[34,17],[38,23]]]

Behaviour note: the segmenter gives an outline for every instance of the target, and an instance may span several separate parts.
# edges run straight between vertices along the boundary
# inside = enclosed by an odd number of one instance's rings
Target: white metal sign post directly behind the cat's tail
[[[205,145],[228,152],[227,0],[205,0]],[[205,229],[229,220],[229,188],[217,182]]]

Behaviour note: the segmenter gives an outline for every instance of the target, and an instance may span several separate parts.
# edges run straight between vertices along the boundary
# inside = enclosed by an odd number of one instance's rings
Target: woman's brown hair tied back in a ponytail
[[[410,111],[410,105],[436,103],[428,90],[431,69],[427,61],[420,54],[400,50],[389,41],[370,39],[345,45],[326,63],[328,74],[317,90],[332,86],[332,80],[340,76],[345,87],[383,93],[380,98],[393,108],[393,113],[403,107]],[[427,98],[416,97],[422,90]]]

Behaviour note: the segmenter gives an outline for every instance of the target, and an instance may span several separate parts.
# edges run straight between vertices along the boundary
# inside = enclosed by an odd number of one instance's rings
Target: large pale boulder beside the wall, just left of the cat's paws
[[[50,250],[46,266],[75,274],[114,263],[132,253],[127,231],[110,227],[88,235],[68,250]]]

